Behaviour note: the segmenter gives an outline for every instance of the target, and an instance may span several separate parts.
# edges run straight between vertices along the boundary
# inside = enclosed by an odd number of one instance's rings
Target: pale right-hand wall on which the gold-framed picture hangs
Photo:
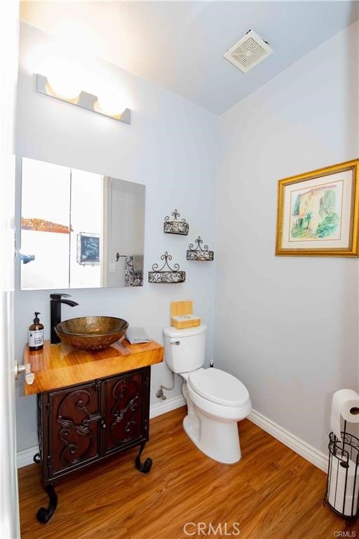
[[[217,364],[325,453],[332,392],[358,389],[358,260],[275,257],[277,182],[359,157],[358,29],[220,119]]]

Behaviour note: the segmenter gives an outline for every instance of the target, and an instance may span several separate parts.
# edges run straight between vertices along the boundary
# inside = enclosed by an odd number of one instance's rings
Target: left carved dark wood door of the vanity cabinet
[[[50,477],[81,467],[100,455],[100,383],[48,393]]]

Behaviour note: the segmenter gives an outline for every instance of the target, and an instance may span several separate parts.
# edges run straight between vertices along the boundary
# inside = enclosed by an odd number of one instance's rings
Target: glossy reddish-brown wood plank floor
[[[248,420],[239,425],[242,460],[216,463],[182,430],[184,413],[151,420],[148,475],[135,469],[134,449],[60,481],[48,524],[36,520],[47,504],[40,467],[22,468],[22,539],[359,539],[359,519],[346,526],[323,507],[326,476],[318,468]]]

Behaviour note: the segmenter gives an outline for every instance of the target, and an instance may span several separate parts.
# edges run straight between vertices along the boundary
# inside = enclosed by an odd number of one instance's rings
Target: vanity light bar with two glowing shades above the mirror
[[[102,116],[122,121],[123,124],[131,123],[131,111],[123,105],[120,98],[113,95],[97,97],[92,93],[81,91],[76,81],[64,81],[60,76],[46,77],[36,75],[36,91],[60,101],[65,101],[76,107],[81,107]]]

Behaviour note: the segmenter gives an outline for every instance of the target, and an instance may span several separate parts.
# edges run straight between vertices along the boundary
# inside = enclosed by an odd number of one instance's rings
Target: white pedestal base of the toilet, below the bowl
[[[236,421],[222,422],[208,418],[193,403],[193,410],[183,420],[184,432],[202,453],[218,463],[234,464],[241,460]]]

